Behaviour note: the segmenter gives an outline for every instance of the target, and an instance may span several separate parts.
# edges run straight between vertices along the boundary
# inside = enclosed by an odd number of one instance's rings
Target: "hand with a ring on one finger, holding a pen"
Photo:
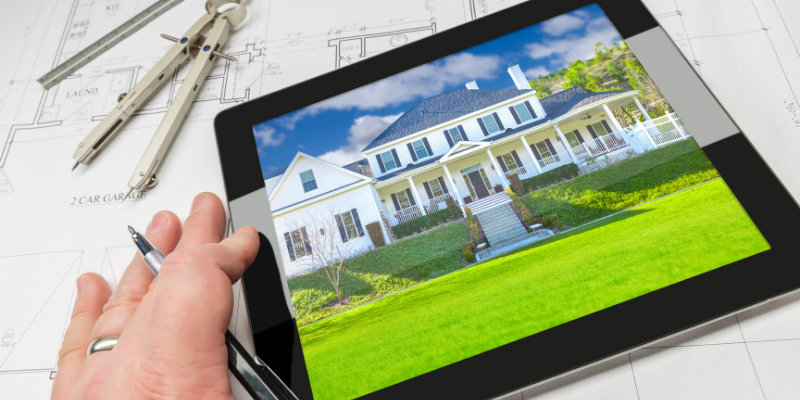
[[[225,347],[231,285],[253,263],[259,238],[245,227],[220,243],[225,225],[219,198],[200,194],[182,234],[168,211],[147,227],[166,255],[158,278],[139,254],[114,294],[100,275],[78,278],[51,398],[233,399]],[[109,336],[119,336],[112,350],[86,356],[93,340]]]

